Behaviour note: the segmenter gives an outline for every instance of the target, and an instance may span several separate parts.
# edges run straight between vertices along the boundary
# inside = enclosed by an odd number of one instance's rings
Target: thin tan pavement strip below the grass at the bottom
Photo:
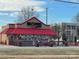
[[[79,55],[0,55],[0,57],[27,57],[27,58],[77,57],[79,58]]]

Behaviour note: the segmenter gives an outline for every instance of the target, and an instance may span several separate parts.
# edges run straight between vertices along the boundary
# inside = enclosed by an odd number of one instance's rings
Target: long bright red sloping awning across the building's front
[[[1,33],[6,34],[34,34],[34,35],[50,35],[56,36],[57,33],[52,29],[39,29],[39,28],[8,28]]]

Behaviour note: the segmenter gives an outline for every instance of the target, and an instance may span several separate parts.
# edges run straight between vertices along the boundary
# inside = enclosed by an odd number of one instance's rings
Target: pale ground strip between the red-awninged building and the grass
[[[40,46],[40,47],[34,47],[34,46],[31,46],[31,47],[27,47],[27,46],[23,46],[23,47],[20,47],[20,46],[9,46],[9,45],[0,45],[0,49],[22,49],[22,48],[25,48],[25,49],[79,49],[79,46],[54,46],[54,47],[49,47],[49,46]]]

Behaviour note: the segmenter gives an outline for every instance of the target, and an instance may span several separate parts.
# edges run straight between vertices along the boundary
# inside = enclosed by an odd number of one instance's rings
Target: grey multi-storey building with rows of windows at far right
[[[61,33],[65,34],[67,42],[79,44],[79,23],[62,23]]]

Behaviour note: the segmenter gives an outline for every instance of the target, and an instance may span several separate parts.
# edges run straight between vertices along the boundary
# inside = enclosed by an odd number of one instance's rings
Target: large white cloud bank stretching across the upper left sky
[[[44,4],[44,1],[37,0],[0,0],[0,10],[20,10],[22,7],[38,7]],[[40,8],[40,10],[42,9]]]

